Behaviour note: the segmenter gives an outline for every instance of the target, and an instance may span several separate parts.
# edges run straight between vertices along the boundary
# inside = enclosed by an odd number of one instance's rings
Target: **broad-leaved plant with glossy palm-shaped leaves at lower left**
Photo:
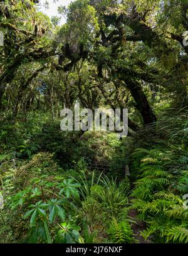
[[[50,228],[57,232],[56,223],[58,220],[65,221],[71,215],[75,215],[76,209],[71,203],[71,198],[79,196],[77,191],[79,186],[80,184],[73,183],[71,179],[66,180],[63,176],[41,175],[33,178],[28,188],[13,196],[10,206],[13,209],[19,207],[19,210],[23,209],[22,211],[28,209],[23,218],[29,218],[32,232],[31,230],[28,232],[31,237],[33,233],[38,233],[38,239],[51,243],[56,238],[54,233],[53,238],[51,238]],[[43,227],[44,233],[39,233],[38,227]],[[70,241],[68,233],[65,237],[66,240],[69,239]]]

